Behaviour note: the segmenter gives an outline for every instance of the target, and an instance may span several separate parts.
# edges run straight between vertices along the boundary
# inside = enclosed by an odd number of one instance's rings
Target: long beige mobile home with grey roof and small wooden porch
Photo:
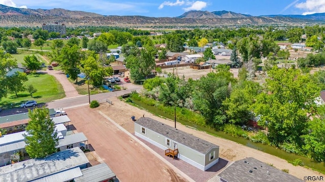
[[[219,161],[219,146],[148,117],[135,121],[135,135],[205,171]]]

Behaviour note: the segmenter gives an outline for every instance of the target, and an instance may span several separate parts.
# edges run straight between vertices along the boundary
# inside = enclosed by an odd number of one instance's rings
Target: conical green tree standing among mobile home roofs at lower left
[[[44,158],[56,152],[58,145],[55,123],[50,118],[49,109],[28,110],[29,122],[25,137],[26,152],[30,158]]]

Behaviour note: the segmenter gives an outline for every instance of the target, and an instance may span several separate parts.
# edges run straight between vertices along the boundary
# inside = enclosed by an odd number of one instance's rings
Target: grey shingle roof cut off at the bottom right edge
[[[252,157],[234,162],[219,177],[228,182],[303,181]]]

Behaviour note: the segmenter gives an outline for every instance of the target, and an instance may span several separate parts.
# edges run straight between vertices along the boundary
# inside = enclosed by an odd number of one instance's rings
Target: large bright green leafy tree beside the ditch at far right
[[[316,107],[319,87],[299,69],[274,66],[268,76],[265,92],[257,96],[252,107],[255,115],[261,116],[258,124],[268,127],[269,140],[275,145],[289,142],[301,147],[300,137],[306,134],[308,113]]]

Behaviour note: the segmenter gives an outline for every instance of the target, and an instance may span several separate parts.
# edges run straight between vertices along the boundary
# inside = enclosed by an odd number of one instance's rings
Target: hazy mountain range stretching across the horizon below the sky
[[[120,26],[120,27],[184,27],[231,25],[301,25],[323,23],[325,13],[312,15],[251,16],[231,11],[189,11],[178,17],[103,16],[83,11],[64,9],[22,9],[0,5],[0,26],[40,26],[54,22],[67,26]]]

